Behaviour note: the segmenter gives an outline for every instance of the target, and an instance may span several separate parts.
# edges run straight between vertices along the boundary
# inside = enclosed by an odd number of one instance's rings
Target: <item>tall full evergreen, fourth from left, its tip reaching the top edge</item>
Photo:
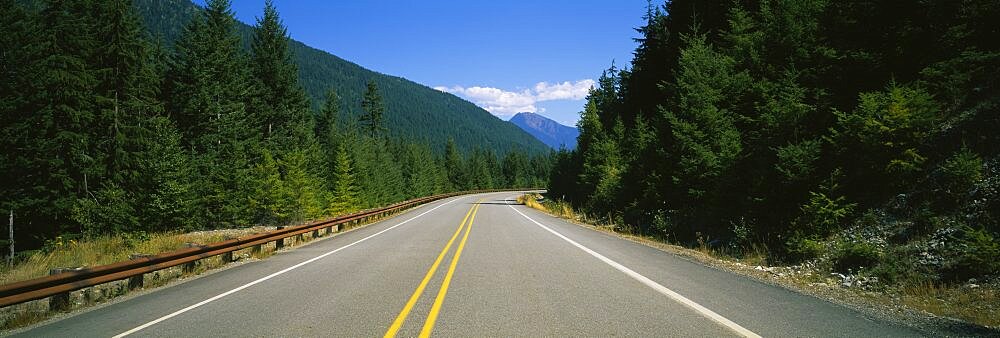
[[[196,222],[203,226],[251,220],[251,161],[260,149],[258,125],[247,110],[253,88],[228,0],[211,0],[175,45],[167,79],[167,110],[192,160]]]

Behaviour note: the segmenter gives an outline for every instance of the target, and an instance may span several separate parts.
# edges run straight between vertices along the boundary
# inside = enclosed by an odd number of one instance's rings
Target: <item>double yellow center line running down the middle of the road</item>
[[[451,245],[455,243],[455,239],[458,235],[462,233],[462,229],[465,229],[465,235],[462,236],[462,241],[458,243],[458,249],[455,251],[455,256],[451,258],[451,265],[448,266],[448,272],[444,276],[444,281],[441,283],[441,289],[438,291],[438,295],[434,298],[434,305],[431,306],[431,312],[427,314],[427,320],[424,321],[424,328],[420,330],[420,337],[430,337],[431,331],[434,330],[434,322],[437,321],[438,313],[441,312],[441,304],[444,303],[444,297],[448,293],[448,286],[451,285],[451,277],[455,275],[455,267],[458,266],[458,259],[462,256],[462,250],[465,249],[465,242],[469,239],[469,232],[472,230],[472,221],[476,219],[476,213],[479,212],[479,204],[483,200],[480,199],[476,201],[476,205],[469,209],[469,212],[465,213],[465,218],[462,219],[462,223],[458,225],[458,229],[455,230],[455,234],[451,235],[451,239],[448,240],[448,244],[445,244],[444,249],[438,254],[434,264],[431,265],[430,270],[427,270],[427,274],[424,275],[424,279],[420,281],[420,285],[417,289],[413,291],[413,295],[410,296],[410,300],[406,302],[403,306],[403,311],[399,312],[396,316],[396,320],[392,322],[392,326],[389,330],[385,332],[385,337],[395,337],[399,333],[399,329],[403,327],[403,322],[406,321],[406,316],[410,314],[413,310],[413,306],[417,304],[417,300],[420,299],[420,295],[424,293],[424,289],[427,288],[427,284],[430,283],[431,278],[434,277],[434,272],[437,271],[438,266],[441,265],[441,261],[448,254],[448,250],[451,249]]]

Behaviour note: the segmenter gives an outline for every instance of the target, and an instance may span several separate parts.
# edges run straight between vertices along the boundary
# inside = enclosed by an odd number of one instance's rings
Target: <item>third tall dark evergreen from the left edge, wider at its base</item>
[[[93,20],[100,23],[95,35],[107,42],[91,61],[101,126],[93,138],[106,154],[107,170],[95,196],[108,200],[78,200],[75,218],[89,233],[176,224],[180,201],[171,199],[184,198],[186,184],[178,174],[183,155],[156,100],[160,78],[150,44],[131,1],[102,2],[92,11]],[[161,191],[165,193],[158,194]]]

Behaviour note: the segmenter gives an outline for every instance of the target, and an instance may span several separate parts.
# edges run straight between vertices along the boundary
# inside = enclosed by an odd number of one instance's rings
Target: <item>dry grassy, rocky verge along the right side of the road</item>
[[[884,287],[878,292],[871,290],[856,290],[841,288],[836,283],[830,284],[829,267],[813,266],[812,268],[792,269],[792,267],[769,267],[772,262],[771,253],[766,246],[750,245],[732,250],[719,250],[709,247],[708,238],[699,238],[694,247],[683,247],[671,244],[665,238],[648,236],[629,231],[631,227],[609,224],[607,220],[597,220],[575,211],[564,201],[542,199],[538,194],[526,194],[517,201],[525,206],[547,212],[557,217],[566,218],[595,230],[611,232],[621,238],[658,248],[683,257],[697,260],[707,265],[722,267],[744,275],[752,275],[768,279],[783,285],[791,286],[809,294],[834,297],[852,304],[871,306],[903,306],[909,309],[926,311],[928,313],[955,318],[991,328],[1000,327],[1000,292],[991,285],[969,287],[968,285],[944,285],[933,283],[917,283],[895,287]],[[826,264],[829,265],[829,264]],[[761,266],[768,270],[762,272],[755,268]],[[858,301],[862,299],[862,301]]]

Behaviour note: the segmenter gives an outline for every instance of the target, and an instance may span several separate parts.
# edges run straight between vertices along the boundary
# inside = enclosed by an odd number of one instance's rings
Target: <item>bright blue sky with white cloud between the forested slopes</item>
[[[204,0],[196,0],[204,4]],[[264,0],[234,0],[253,24]],[[645,0],[276,0],[292,38],[454,93],[503,119],[572,125],[586,89],[635,49]]]

